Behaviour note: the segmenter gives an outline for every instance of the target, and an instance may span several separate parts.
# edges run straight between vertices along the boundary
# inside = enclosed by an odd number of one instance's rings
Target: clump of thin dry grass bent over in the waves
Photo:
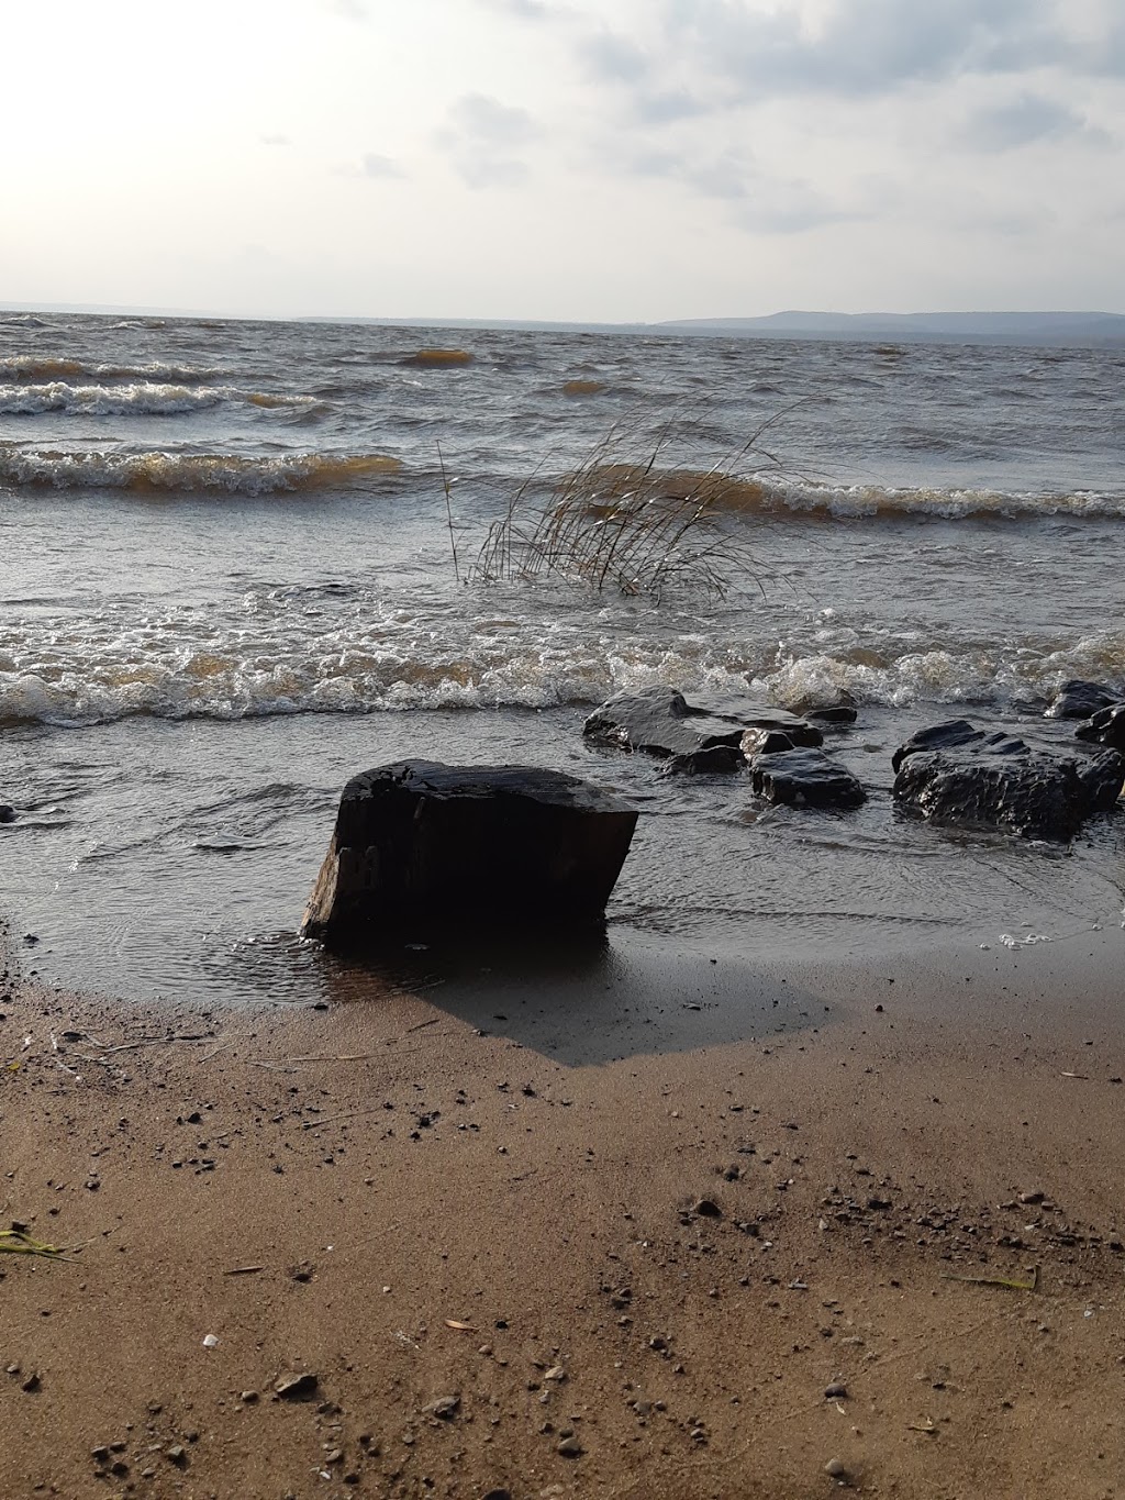
[[[762,447],[776,420],[705,468],[682,464],[684,453],[699,446],[696,423],[669,422],[644,448],[630,428],[612,428],[546,498],[532,498],[534,476],[516,490],[506,514],[489,528],[470,579],[490,584],[554,574],[598,592],[650,598],[669,591],[722,598],[738,579],[762,588],[771,572],[729,518],[758,510],[764,480],[784,472],[782,460]]]

